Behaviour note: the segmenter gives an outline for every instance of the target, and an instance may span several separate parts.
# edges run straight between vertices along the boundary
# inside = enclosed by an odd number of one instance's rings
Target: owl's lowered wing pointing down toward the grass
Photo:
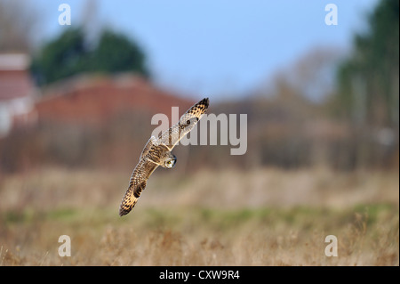
[[[146,147],[145,147],[146,149]],[[148,177],[154,172],[158,165],[146,157],[141,157],[138,165],[133,170],[128,190],[125,192],[124,198],[119,207],[119,215],[123,216],[131,212],[136,202],[140,198],[148,183]]]

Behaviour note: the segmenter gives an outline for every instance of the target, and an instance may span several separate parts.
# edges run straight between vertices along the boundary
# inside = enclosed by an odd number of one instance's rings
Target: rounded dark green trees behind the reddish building
[[[124,71],[148,77],[145,54],[130,38],[105,29],[98,43],[91,44],[84,28],[68,28],[34,57],[31,70],[36,82],[46,85],[80,73]]]

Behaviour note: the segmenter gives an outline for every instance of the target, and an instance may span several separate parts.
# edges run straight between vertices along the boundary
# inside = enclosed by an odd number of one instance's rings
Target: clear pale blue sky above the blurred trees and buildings
[[[365,15],[379,0],[92,0],[95,27],[134,38],[148,54],[157,85],[194,96],[246,93],[316,46],[349,49]],[[81,22],[82,0],[39,0],[43,37],[58,24],[59,4]],[[327,26],[326,4],[338,7],[338,25]]]

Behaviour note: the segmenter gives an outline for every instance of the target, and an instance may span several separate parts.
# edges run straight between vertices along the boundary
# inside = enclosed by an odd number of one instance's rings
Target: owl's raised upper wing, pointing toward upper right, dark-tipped
[[[173,147],[180,142],[180,139],[196,126],[196,123],[203,117],[205,111],[208,109],[208,105],[208,98],[197,102],[180,117],[180,121],[177,124],[160,134],[157,142],[164,144],[169,150],[172,150]]]

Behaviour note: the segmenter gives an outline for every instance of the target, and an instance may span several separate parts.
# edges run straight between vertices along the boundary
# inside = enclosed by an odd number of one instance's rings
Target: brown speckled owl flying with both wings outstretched
[[[141,191],[146,187],[148,177],[156,170],[157,166],[164,168],[175,166],[176,157],[171,152],[173,147],[196,126],[196,123],[208,109],[208,104],[208,98],[197,102],[180,117],[177,124],[164,131],[158,138],[150,137],[141,152],[139,163],[133,170],[128,190],[121,201],[120,216],[128,214],[138,202]]]

